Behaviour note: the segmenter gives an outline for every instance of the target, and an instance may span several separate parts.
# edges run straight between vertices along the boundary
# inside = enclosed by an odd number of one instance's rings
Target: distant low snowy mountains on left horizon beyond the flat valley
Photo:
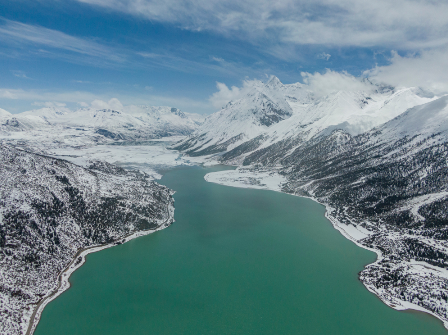
[[[188,135],[201,121],[203,116],[197,114],[153,106],[76,111],[52,106],[14,115],[1,110],[0,140],[34,151],[33,143],[49,148]]]

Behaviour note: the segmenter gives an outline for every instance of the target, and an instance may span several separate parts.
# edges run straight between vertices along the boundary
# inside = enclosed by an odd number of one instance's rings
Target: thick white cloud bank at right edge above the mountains
[[[448,46],[400,56],[392,51],[390,64],[364,72],[378,82],[393,86],[421,86],[435,93],[448,91]]]

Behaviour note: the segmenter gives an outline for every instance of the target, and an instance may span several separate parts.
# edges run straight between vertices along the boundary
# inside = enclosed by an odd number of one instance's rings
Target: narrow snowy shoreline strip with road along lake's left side
[[[172,195],[174,193],[170,193],[170,194]],[[73,274],[73,272],[75,272],[77,269],[79,269],[85,263],[85,261],[86,261],[85,256],[87,256],[88,254],[94,253],[94,252],[98,252],[98,251],[101,251],[104,249],[111,248],[116,245],[126,243],[130,240],[133,240],[134,238],[149,235],[156,231],[159,231],[159,230],[169,227],[174,222],[174,206],[171,205],[170,202],[168,202],[166,205],[166,209],[168,212],[168,218],[165,221],[163,221],[162,223],[160,223],[155,228],[137,230],[132,233],[123,235],[112,242],[105,243],[105,244],[93,245],[93,246],[85,247],[85,248],[82,248],[82,249],[76,251],[76,253],[74,254],[71,261],[68,263],[68,265],[57,274],[57,277],[56,277],[57,281],[58,281],[57,288],[55,290],[53,290],[52,292],[50,292],[45,297],[42,297],[40,299],[40,301],[36,304],[36,307],[34,308],[34,311],[31,315],[31,318],[28,321],[27,330],[23,334],[24,335],[32,335],[34,333],[34,331],[36,330],[37,325],[39,324],[40,317],[41,317],[42,312],[43,312],[44,308],[46,307],[46,305],[48,305],[48,303],[50,303],[51,301],[56,299],[64,291],[66,291],[70,288],[71,285],[68,280],[69,280],[70,276]],[[117,242],[120,242],[120,243],[117,243]],[[78,259],[79,257],[81,257],[81,260],[77,264],[74,264],[76,259]]]

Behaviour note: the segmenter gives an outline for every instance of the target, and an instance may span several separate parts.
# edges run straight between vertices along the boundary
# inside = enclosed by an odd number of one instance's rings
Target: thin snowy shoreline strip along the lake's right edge
[[[222,165],[225,165],[225,164],[222,164]],[[239,167],[237,166],[237,169],[238,168]],[[233,170],[233,171],[236,171],[236,170]],[[383,256],[383,254],[381,253],[380,250],[369,248],[369,247],[359,243],[359,241],[356,238],[354,238],[346,230],[344,230],[344,228],[340,226],[340,225],[343,225],[343,223],[340,222],[338,219],[336,219],[335,217],[333,217],[331,215],[331,212],[334,210],[334,208],[329,206],[329,205],[327,205],[327,204],[325,204],[325,203],[320,202],[316,198],[311,197],[311,196],[304,196],[304,195],[297,195],[297,194],[287,193],[287,192],[282,191],[281,189],[271,188],[271,187],[267,186],[266,184],[264,184],[264,186],[256,185],[256,184],[246,184],[246,183],[238,182],[235,179],[233,179],[233,183],[225,183],[225,182],[219,182],[218,178],[216,178],[214,180],[210,180],[210,177],[206,178],[207,175],[212,174],[212,173],[217,173],[217,172],[210,172],[210,173],[207,173],[204,176],[204,179],[207,182],[214,182],[214,183],[217,183],[217,184],[220,184],[220,185],[230,186],[230,187],[265,189],[265,190],[271,190],[271,191],[275,191],[275,192],[280,192],[280,193],[284,193],[284,194],[289,194],[289,195],[299,196],[299,197],[302,197],[302,198],[311,199],[311,200],[313,200],[313,201],[315,201],[315,202],[325,206],[325,214],[324,214],[324,216],[330,221],[330,223],[332,224],[333,228],[338,230],[345,238],[347,238],[348,240],[350,240],[353,243],[355,243],[358,247],[361,247],[363,249],[375,252],[377,254],[376,261],[373,262],[373,263],[369,263],[369,264],[364,265],[365,269],[367,269],[367,267],[370,267],[370,266],[375,266],[378,262],[380,262],[381,260],[384,259],[384,256]],[[237,173],[239,173],[239,172],[237,172]],[[266,174],[266,172],[261,172],[261,173]],[[244,174],[241,173],[240,175],[243,176]],[[254,174],[254,176],[256,176],[256,175],[257,175],[257,173]],[[411,264],[410,262],[406,262],[406,263]],[[421,307],[419,305],[416,305],[416,304],[413,304],[413,303],[410,303],[410,302],[407,302],[407,301],[400,300],[400,299],[398,299],[396,297],[393,297],[394,301],[392,301],[392,299],[390,299],[390,300],[384,299],[383,297],[380,296],[379,292],[377,292],[373,287],[371,287],[371,285],[368,285],[368,284],[364,283],[361,279],[359,279],[359,280],[361,281],[361,283],[366,287],[366,289],[369,292],[375,294],[388,307],[393,308],[394,310],[397,310],[397,311],[415,310],[415,311],[418,311],[418,312],[424,312],[424,313],[430,314],[430,315],[436,317],[438,320],[442,321],[445,329],[448,330],[448,321],[447,320],[443,320],[440,316],[438,316],[434,312],[432,312],[430,310],[427,310],[424,307]],[[397,305],[397,304],[400,304],[401,306]]]

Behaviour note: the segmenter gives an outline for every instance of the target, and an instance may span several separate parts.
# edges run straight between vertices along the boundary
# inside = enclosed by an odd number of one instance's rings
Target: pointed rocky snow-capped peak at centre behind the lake
[[[173,148],[191,156],[231,150],[289,119],[294,111],[288,101],[300,109],[297,105],[312,101],[312,94],[301,84],[283,85],[275,76],[267,83],[257,81],[243,98],[207,117],[197,131]]]

